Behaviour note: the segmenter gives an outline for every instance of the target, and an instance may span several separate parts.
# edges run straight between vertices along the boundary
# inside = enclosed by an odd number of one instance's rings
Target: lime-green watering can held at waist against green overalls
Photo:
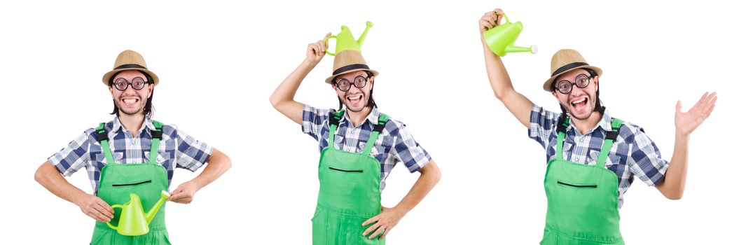
[[[122,235],[145,235],[150,232],[148,228],[150,220],[153,220],[160,206],[163,206],[163,202],[169,199],[170,196],[168,192],[161,191],[160,200],[155,203],[148,213],[145,213],[145,211],[142,211],[140,197],[137,194],[131,193],[129,202],[111,206],[112,209],[122,209],[122,214],[119,215],[119,226],[114,226],[109,222],[106,224],[111,229],[116,229],[116,232]]]

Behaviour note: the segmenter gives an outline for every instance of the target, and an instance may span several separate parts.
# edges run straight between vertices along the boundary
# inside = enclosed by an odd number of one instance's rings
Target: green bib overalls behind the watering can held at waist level
[[[101,197],[109,205],[122,204],[130,201],[130,193],[140,196],[142,206],[145,210],[150,209],[160,199],[160,192],[168,190],[169,179],[166,168],[157,164],[158,146],[163,133],[161,124],[153,121],[156,130],[151,131],[152,141],[150,156],[147,163],[121,164],[114,163],[114,158],[109,147],[108,133],[104,124],[96,128],[98,141],[104,150],[107,165],[101,169],[101,178],[98,182],[98,197]],[[119,224],[121,209],[114,209],[113,225]],[[169,233],[166,232],[166,220],[164,219],[166,204],[157,211],[149,224],[150,232],[145,235],[127,236],[120,235],[115,229],[111,229],[104,222],[96,221],[93,229],[91,244],[171,244]]]

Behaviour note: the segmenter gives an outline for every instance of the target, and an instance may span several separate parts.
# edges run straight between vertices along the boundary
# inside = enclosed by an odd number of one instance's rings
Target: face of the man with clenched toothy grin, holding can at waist
[[[119,77],[124,78],[129,83],[131,83],[135,77],[142,77],[143,80],[146,79],[145,74],[136,70],[119,72],[113,80],[116,81]],[[111,98],[114,100],[116,106],[119,107],[119,112],[125,113],[126,115],[137,115],[142,112],[142,109],[145,108],[145,102],[150,98],[154,86],[150,83],[151,81],[145,80],[145,82],[148,82],[148,84],[145,84],[145,87],[140,90],[134,89],[132,84],[128,84],[127,89],[124,91],[119,91],[119,89],[116,89],[114,86],[109,86]]]

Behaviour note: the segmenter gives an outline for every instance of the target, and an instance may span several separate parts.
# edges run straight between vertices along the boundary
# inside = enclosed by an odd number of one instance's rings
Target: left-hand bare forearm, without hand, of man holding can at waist
[[[44,162],[34,174],[34,179],[44,186],[49,192],[67,200],[70,203],[78,204],[78,197],[87,195],[87,193],[75,185],[70,184],[67,180],[51,165],[51,162]]]

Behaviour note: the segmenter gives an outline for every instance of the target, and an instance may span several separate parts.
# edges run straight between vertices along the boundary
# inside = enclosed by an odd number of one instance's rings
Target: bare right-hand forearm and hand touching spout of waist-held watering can
[[[218,179],[231,168],[231,159],[220,150],[213,148],[213,153],[207,158],[207,167],[194,179],[184,182],[171,192],[169,201],[175,203],[192,203],[194,194],[204,186]]]

